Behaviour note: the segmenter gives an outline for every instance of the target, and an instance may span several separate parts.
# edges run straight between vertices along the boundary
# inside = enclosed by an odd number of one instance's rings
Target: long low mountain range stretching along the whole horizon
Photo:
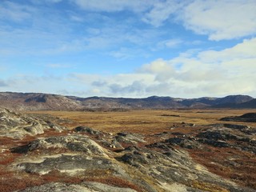
[[[256,108],[247,95],[224,98],[79,98],[58,94],[0,92],[0,106],[14,110],[138,110],[180,108]]]

